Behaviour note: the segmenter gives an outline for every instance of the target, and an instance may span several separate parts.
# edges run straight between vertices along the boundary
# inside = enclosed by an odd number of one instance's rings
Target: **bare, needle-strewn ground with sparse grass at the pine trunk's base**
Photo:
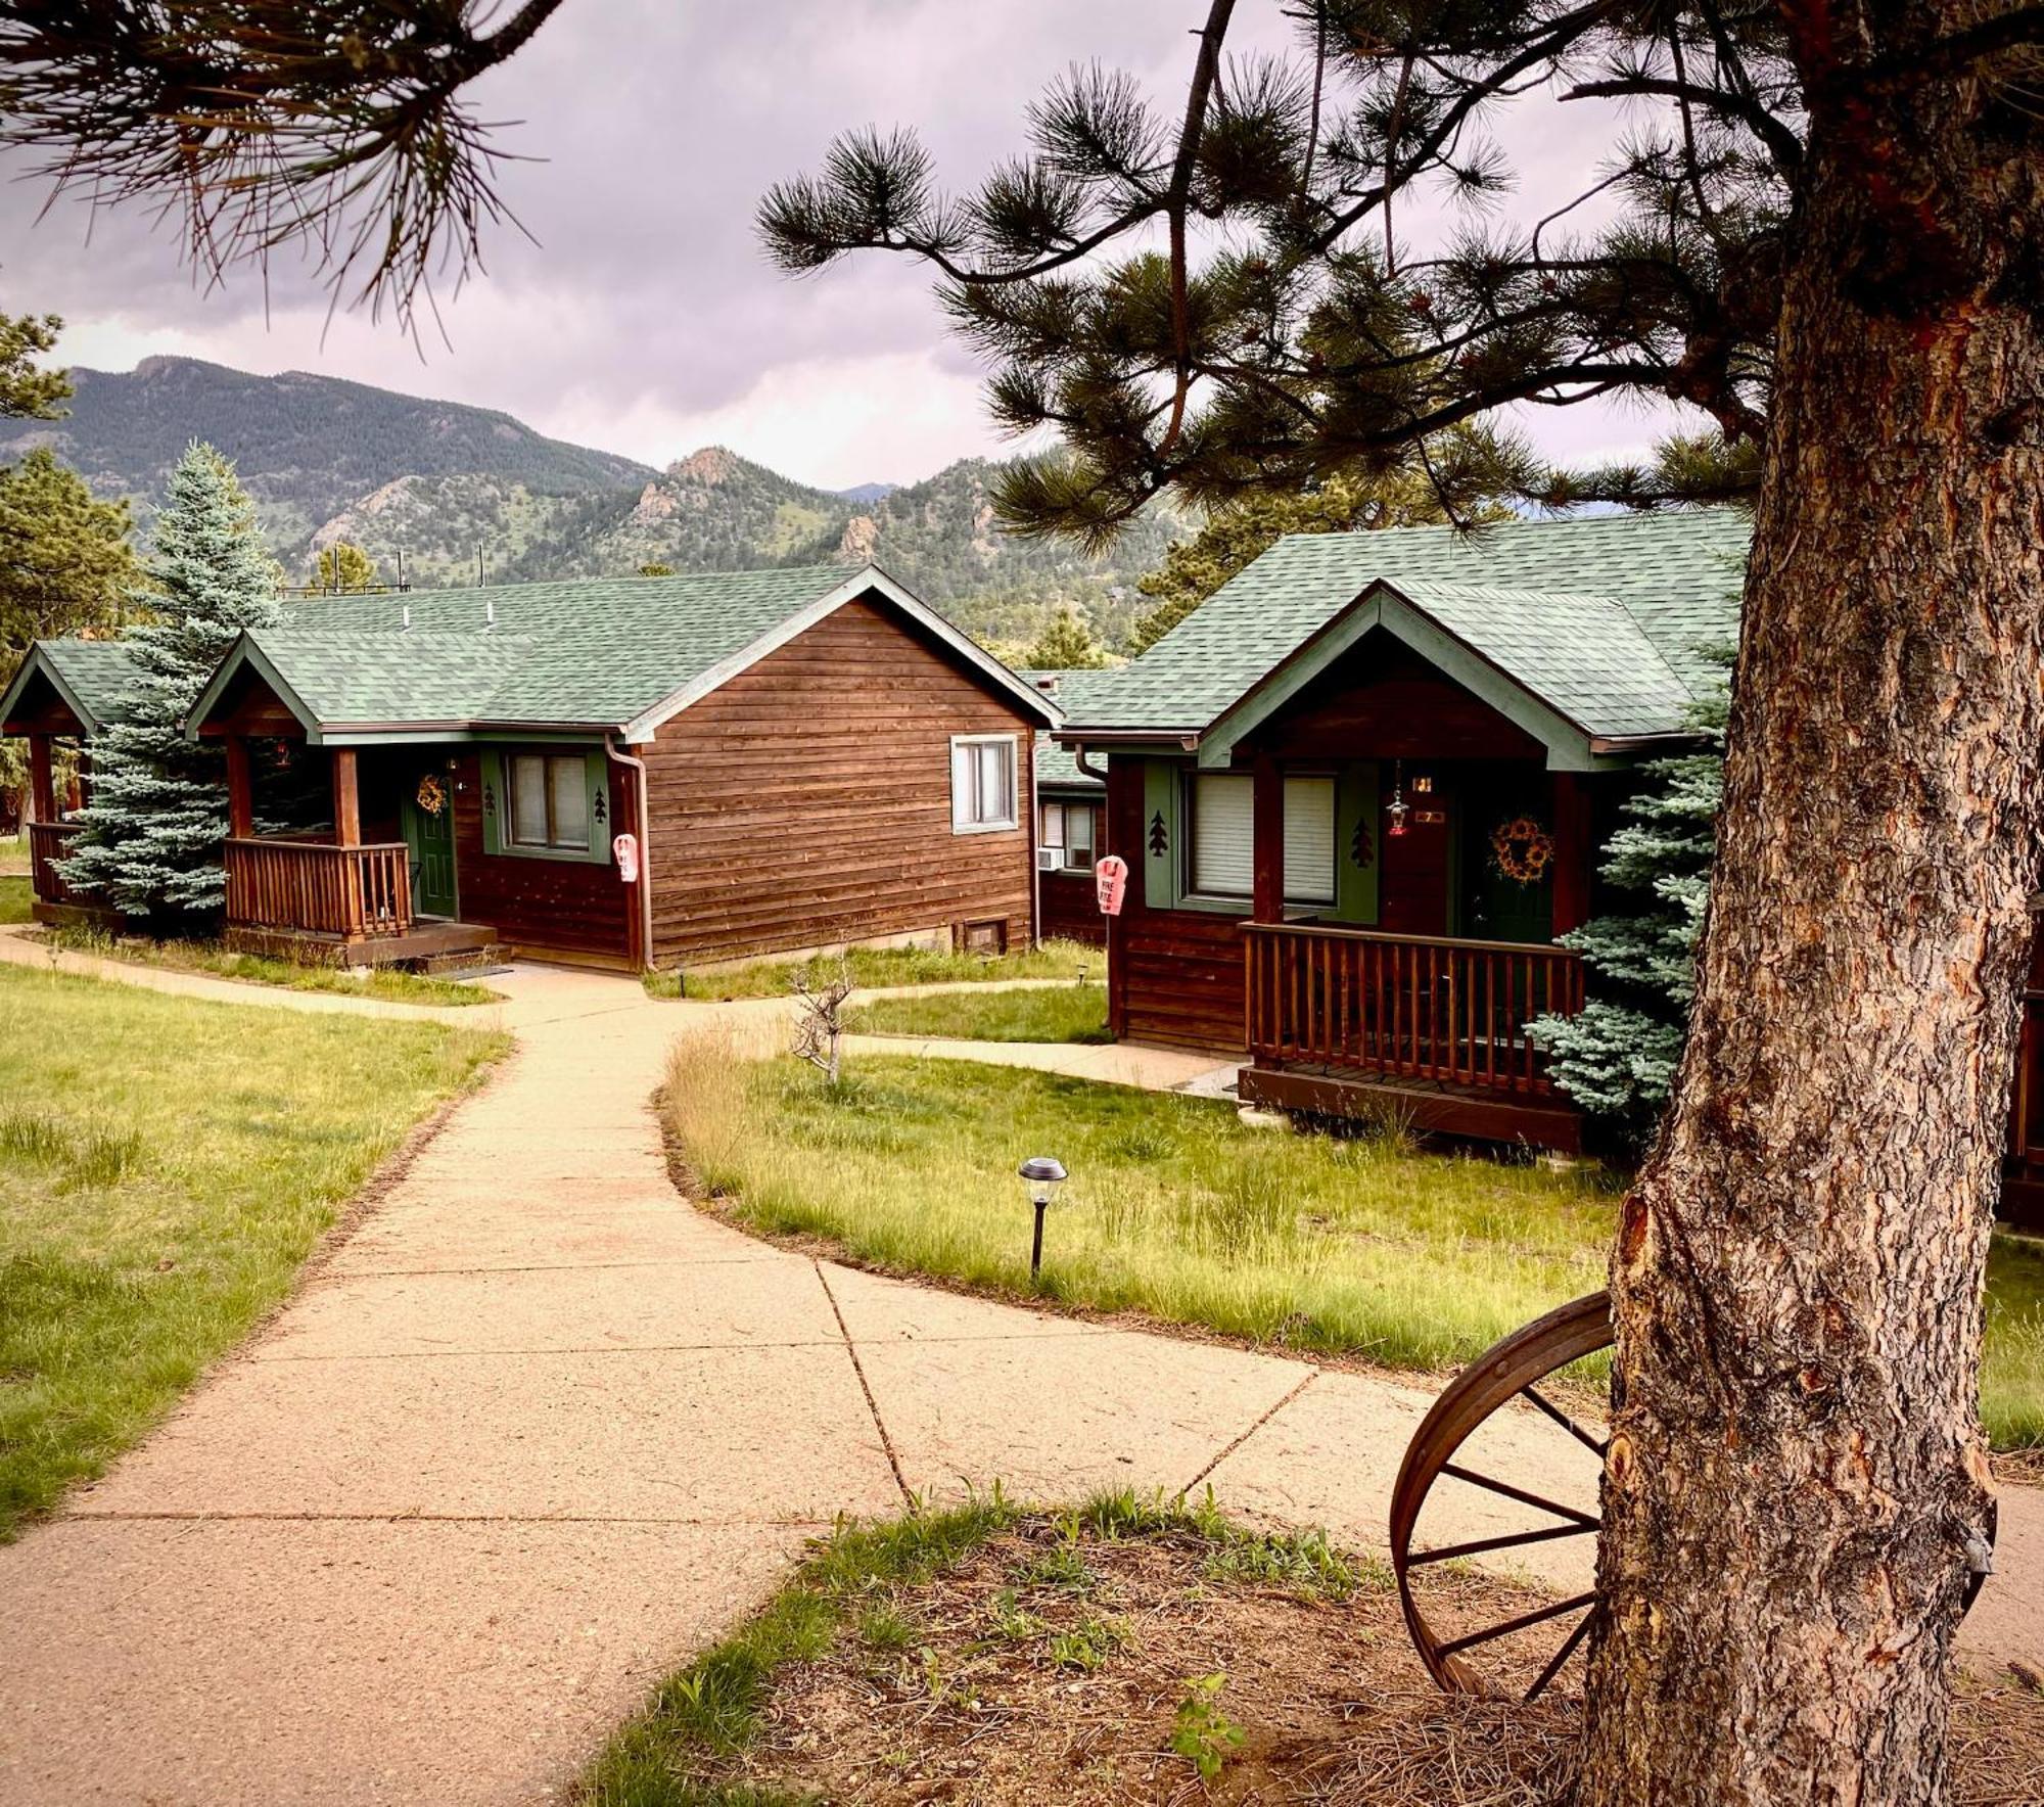
[[[1441,1574],[1429,1611],[1537,1601]],[[1521,1680],[1547,1654],[1529,1641]],[[1535,1807],[1568,1785],[1576,1713],[1435,1693],[1388,1572],[1318,1537],[995,1500],[820,1545],[660,1688],[580,1807]],[[1962,1807],[2034,1801],[2044,1701],[1968,1688],[1956,1733]]]

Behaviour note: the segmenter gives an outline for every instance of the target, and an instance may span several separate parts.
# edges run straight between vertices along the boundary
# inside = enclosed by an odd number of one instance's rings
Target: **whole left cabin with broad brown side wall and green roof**
[[[672,969],[1024,944],[1055,717],[879,568],[809,566],[294,601],[186,732],[227,750],[233,946]]]

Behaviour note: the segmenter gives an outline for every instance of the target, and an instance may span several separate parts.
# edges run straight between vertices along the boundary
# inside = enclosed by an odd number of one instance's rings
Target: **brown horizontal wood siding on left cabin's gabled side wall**
[[[654,963],[985,920],[1026,946],[1032,728],[885,605],[832,611],[638,748]],[[953,834],[955,734],[1016,736],[1022,826]]]

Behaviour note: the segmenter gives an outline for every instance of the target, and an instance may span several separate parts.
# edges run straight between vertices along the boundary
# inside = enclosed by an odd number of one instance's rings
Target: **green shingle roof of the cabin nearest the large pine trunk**
[[[1733,509],[1296,534],[1067,705],[1063,732],[1196,734],[1378,583],[1588,734],[1676,732],[1713,677],[1699,648],[1737,632],[1750,536]]]

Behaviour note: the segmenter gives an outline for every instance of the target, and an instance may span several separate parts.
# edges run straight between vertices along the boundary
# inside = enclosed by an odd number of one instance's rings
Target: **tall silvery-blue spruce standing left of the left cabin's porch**
[[[235,636],[278,619],[278,568],[233,464],[192,444],[155,517],[151,617],[129,634],[135,693],[94,744],[92,805],[65,879],[161,932],[225,891],[227,771],[184,717]]]

